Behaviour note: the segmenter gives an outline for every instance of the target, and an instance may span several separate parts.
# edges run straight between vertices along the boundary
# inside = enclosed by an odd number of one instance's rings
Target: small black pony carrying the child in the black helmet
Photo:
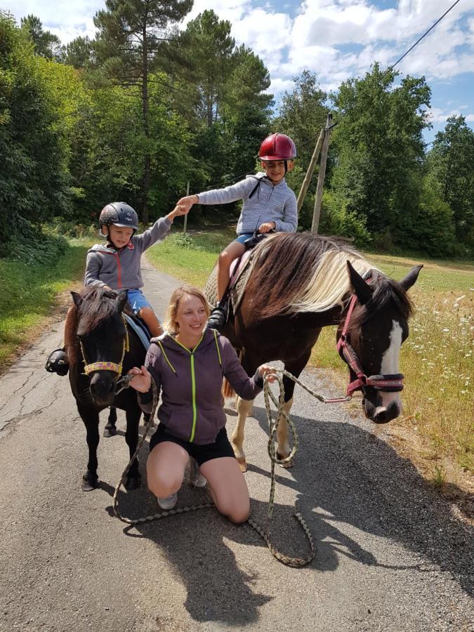
[[[146,351],[135,331],[126,323],[126,291],[116,294],[103,287],[85,287],[80,294],[71,294],[74,317],[65,331],[65,343],[71,390],[87,431],[89,459],[81,487],[88,492],[99,487],[97,447],[101,410],[113,406],[126,412],[125,440],[130,456],[136,450],[141,415],[136,391],[132,388],[121,390],[117,385],[129,369],[142,366]],[[140,482],[136,459],[125,487],[136,489]]]

